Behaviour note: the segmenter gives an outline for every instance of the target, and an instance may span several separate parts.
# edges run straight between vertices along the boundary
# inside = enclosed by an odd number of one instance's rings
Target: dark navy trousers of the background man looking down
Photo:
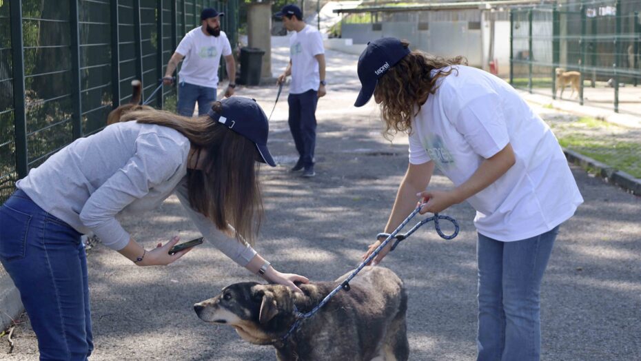
[[[298,157],[305,168],[314,165],[316,147],[316,105],[318,92],[309,90],[302,94],[289,94],[289,130],[294,137]]]

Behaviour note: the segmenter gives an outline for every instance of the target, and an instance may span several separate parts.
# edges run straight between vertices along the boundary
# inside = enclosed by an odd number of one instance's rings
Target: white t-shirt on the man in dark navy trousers
[[[305,25],[300,32],[289,37],[289,59],[292,59],[292,83],[289,94],[303,94],[308,90],[318,90],[321,75],[318,60],[314,56],[325,54],[323,37],[316,28]],[[325,80],[325,79],[323,79]]]

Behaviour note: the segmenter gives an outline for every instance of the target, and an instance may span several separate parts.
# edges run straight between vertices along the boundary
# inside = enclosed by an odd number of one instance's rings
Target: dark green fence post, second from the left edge
[[[69,28],[71,31],[71,99],[73,103],[73,137],[82,136],[82,106],[80,96],[80,33],[79,33],[79,0],[70,1]]]

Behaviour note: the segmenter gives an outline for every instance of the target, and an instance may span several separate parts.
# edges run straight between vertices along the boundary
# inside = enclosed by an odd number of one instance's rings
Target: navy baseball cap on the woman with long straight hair
[[[232,96],[221,101],[223,110],[220,113],[210,109],[207,112],[214,121],[225,125],[234,132],[245,136],[256,144],[258,153],[263,158],[263,163],[276,167],[272,154],[267,149],[267,135],[269,124],[263,109],[254,99],[243,96]]]

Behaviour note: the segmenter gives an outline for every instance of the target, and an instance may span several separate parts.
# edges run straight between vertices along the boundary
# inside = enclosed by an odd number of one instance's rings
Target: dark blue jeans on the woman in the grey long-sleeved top
[[[94,345],[81,234],[18,190],[0,207],[0,261],[20,291],[40,360],[87,360]]]

